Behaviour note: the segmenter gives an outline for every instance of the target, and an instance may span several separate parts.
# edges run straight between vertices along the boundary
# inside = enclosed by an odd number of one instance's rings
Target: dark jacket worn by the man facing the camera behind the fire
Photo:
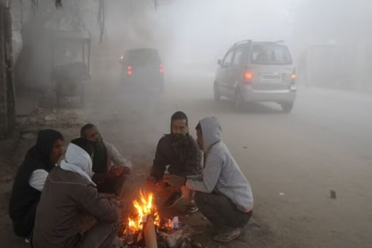
[[[151,176],[162,179],[167,165],[168,172],[177,176],[198,175],[201,173],[201,152],[191,135],[174,140],[165,134],[158,143]]]

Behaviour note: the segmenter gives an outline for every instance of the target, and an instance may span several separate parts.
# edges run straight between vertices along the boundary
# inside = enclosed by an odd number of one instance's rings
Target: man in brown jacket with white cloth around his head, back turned
[[[108,248],[119,229],[119,202],[97,192],[92,176],[93,148],[77,138],[61,165],[48,175],[36,211],[34,248]],[[83,215],[97,224],[86,232]]]

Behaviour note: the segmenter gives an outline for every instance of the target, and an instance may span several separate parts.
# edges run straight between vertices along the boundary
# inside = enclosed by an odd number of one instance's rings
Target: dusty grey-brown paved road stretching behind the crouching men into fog
[[[91,118],[112,142],[137,147],[150,166],[173,112],[186,112],[193,134],[200,118],[217,116],[254,193],[256,226],[262,232],[250,235],[248,244],[370,247],[371,95],[300,88],[291,114],[276,104],[236,111],[228,100],[213,101],[211,78],[183,78],[169,79],[163,94],[100,90]],[[337,199],[329,197],[330,190]]]

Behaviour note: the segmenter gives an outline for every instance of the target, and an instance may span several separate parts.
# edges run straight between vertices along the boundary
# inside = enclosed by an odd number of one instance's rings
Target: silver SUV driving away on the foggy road
[[[234,99],[236,107],[249,102],[276,102],[291,112],[296,98],[296,69],[288,47],[278,42],[235,43],[218,60],[214,99]]]

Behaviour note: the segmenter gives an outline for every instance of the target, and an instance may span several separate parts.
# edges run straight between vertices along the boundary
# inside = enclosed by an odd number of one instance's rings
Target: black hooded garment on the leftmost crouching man
[[[55,164],[50,161],[50,155],[54,143],[59,139],[63,140],[60,132],[52,129],[41,130],[36,145],[27,151],[15,176],[9,201],[9,216],[13,221],[14,232],[18,236],[28,237],[30,235],[32,228],[28,227],[25,230],[22,222],[27,214],[35,215],[29,211],[40,199],[41,191],[29,185],[30,176],[36,170],[44,170],[48,173],[55,167]]]

